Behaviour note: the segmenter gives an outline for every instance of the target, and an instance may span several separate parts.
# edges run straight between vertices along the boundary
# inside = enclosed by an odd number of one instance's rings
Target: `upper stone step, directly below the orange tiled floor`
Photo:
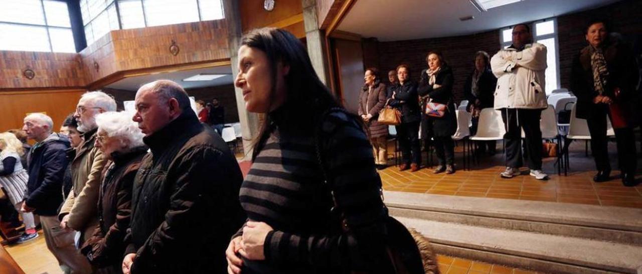
[[[642,246],[642,209],[386,191],[390,214]]]

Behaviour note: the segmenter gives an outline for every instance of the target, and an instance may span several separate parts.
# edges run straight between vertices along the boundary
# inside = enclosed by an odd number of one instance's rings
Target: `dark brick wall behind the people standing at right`
[[[624,0],[593,10],[571,13],[557,17],[560,85],[569,86],[571,64],[577,52],[586,46],[584,25],[589,18],[602,17],[613,20],[613,30],[625,36],[642,33],[642,4],[639,0]],[[642,43],[642,41],[639,41]],[[363,39],[363,64],[377,67],[381,76],[386,77],[388,70],[401,63],[410,65],[412,79],[419,80],[419,73],[426,68],[426,53],[431,50],[442,51],[447,63],[453,68],[455,85],[453,92],[456,101],[463,99],[466,77],[473,70],[474,53],[486,51],[492,56],[499,51],[499,30],[474,35],[426,38],[393,42],[378,42],[374,38]]]

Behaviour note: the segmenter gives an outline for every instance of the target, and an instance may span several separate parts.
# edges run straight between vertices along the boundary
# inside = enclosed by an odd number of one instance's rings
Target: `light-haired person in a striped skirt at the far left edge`
[[[21,212],[29,180],[29,175],[20,161],[23,154],[22,142],[13,133],[0,133],[0,186],[19,212]],[[33,213],[22,212],[21,214],[24,234],[18,238],[17,243],[24,243],[38,237]]]

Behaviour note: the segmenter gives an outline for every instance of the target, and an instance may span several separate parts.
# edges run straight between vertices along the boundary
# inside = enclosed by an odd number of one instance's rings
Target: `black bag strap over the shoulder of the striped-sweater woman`
[[[345,109],[338,108],[338,107],[329,108],[326,111],[324,111],[324,113],[321,115],[321,118],[318,120],[317,129],[315,131],[315,149],[317,150],[317,162],[321,170],[321,173],[323,174],[323,177],[324,177],[323,182],[327,186],[327,188],[330,190],[330,195],[332,196],[333,207],[331,211],[339,213],[339,216],[341,218],[342,230],[347,232],[350,230],[350,225],[348,224],[348,221],[345,219],[345,215],[343,214],[343,212],[341,212],[341,208],[336,203],[336,196],[334,195],[334,189],[333,189],[334,185],[332,182],[329,182],[329,177],[327,175],[327,171],[325,170],[323,156],[321,154],[321,131],[322,131],[323,123],[325,121],[325,118],[327,118],[327,116],[333,112],[342,112],[342,113],[345,113],[345,115],[349,115],[349,113],[347,113]],[[379,185],[378,187],[379,187],[379,197],[381,197],[381,202],[383,204],[383,186]],[[383,207],[385,211],[388,212],[388,208],[386,207],[385,204],[383,204]]]

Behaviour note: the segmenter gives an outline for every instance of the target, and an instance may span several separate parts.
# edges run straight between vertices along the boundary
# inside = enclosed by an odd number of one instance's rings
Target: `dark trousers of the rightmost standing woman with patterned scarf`
[[[598,170],[611,170],[609,163],[609,153],[607,150],[606,136],[606,117],[609,112],[607,109],[600,111],[600,114],[594,113],[586,119],[591,133],[591,151],[595,159],[595,167]],[[618,166],[622,172],[635,173],[638,166],[636,158],[636,142],[632,127],[615,129],[615,140],[618,144]]]

